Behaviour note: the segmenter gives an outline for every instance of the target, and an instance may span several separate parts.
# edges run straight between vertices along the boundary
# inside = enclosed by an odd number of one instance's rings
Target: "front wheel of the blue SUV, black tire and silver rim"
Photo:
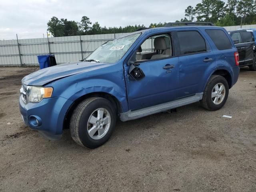
[[[116,112],[112,105],[109,100],[99,97],[80,102],[70,119],[72,139],[78,145],[88,148],[97,148],[108,141],[116,126]]]

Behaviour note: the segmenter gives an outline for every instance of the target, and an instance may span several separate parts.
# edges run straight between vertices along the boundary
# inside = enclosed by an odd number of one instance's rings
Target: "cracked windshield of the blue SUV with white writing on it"
[[[140,33],[126,36],[119,39],[114,39],[106,42],[92,54],[90,54],[86,60],[96,60],[101,63],[114,63],[117,62],[124,56],[128,51],[130,46],[135,42],[135,40],[140,36]]]

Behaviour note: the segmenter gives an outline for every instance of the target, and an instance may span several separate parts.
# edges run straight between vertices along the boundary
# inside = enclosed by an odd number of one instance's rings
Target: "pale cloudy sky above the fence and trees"
[[[0,40],[46,37],[47,22],[56,16],[100,26],[175,22],[187,6],[201,0],[0,0]]]

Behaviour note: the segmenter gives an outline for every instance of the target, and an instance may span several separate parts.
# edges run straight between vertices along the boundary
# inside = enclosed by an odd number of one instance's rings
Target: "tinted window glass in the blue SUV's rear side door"
[[[197,31],[178,31],[180,54],[206,52],[204,38]]]

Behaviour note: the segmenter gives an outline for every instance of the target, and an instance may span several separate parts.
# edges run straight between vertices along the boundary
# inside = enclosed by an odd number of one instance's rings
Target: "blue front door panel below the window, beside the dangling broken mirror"
[[[143,78],[136,80],[130,75],[126,78],[129,109],[145,108],[176,99],[178,57],[142,62],[139,68],[145,75]]]

